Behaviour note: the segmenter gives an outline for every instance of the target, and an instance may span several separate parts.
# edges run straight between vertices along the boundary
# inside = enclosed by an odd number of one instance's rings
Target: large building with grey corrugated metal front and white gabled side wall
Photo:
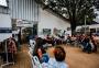
[[[55,29],[58,33],[63,33],[70,27],[68,21],[59,18],[50,10],[43,10],[34,0],[1,1],[4,1],[7,4],[0,5],[0,15],[2,14],[4,18],[9,15],[9,23],[12,31],[18,32],[20,30],[22,34],[28,35],[45,35],[54,34]],[[0,19],[1,26],[1,20],[4,20],[4,18]],[[8,22],[4,24],[8,24]]]

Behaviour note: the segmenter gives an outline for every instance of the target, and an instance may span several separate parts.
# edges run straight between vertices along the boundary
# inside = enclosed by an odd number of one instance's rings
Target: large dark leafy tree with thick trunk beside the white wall
[[[87,22],[91,22],[96,14],[94,13],[94,7],[96,0],[42,0],[45,3],[44,9],[52,9],[54,12],[61,14],[70,21],[72,34],[79,24],[84,24],[85,16]]]

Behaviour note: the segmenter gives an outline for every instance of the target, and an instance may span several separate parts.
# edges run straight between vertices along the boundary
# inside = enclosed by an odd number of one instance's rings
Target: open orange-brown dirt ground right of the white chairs
[[[63,46],[63,45],[62,45]],[[99,68],[99,50],[98,53],[87,54],[79,47],[63,46],[66,50],[65,61],[68,64],[68,68]],[[53,47],[47,52],[53,57]]]

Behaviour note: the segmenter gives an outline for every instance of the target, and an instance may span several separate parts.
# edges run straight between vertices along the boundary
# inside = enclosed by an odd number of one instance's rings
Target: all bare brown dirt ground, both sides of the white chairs
[[[65,61],[68,64],[68,68],[99,68],[99,49],[98,53],[87,54],[79,47],[72,47],[61,45],[66,50]],[[53,47],[47,49],[51,57],[53,55]],[[4,68],[31,68],[31,60],[28,54],[28,46],[23,45],[22,50],[18,53],[15,65],[7,66]]]

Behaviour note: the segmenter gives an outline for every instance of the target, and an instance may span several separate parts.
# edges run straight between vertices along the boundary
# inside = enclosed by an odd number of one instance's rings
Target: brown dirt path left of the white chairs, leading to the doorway
[[[28,50],[28,45],[22,45],[21,52],[16,53],[14,65],[8,65],[2,68],[32,68]]]

